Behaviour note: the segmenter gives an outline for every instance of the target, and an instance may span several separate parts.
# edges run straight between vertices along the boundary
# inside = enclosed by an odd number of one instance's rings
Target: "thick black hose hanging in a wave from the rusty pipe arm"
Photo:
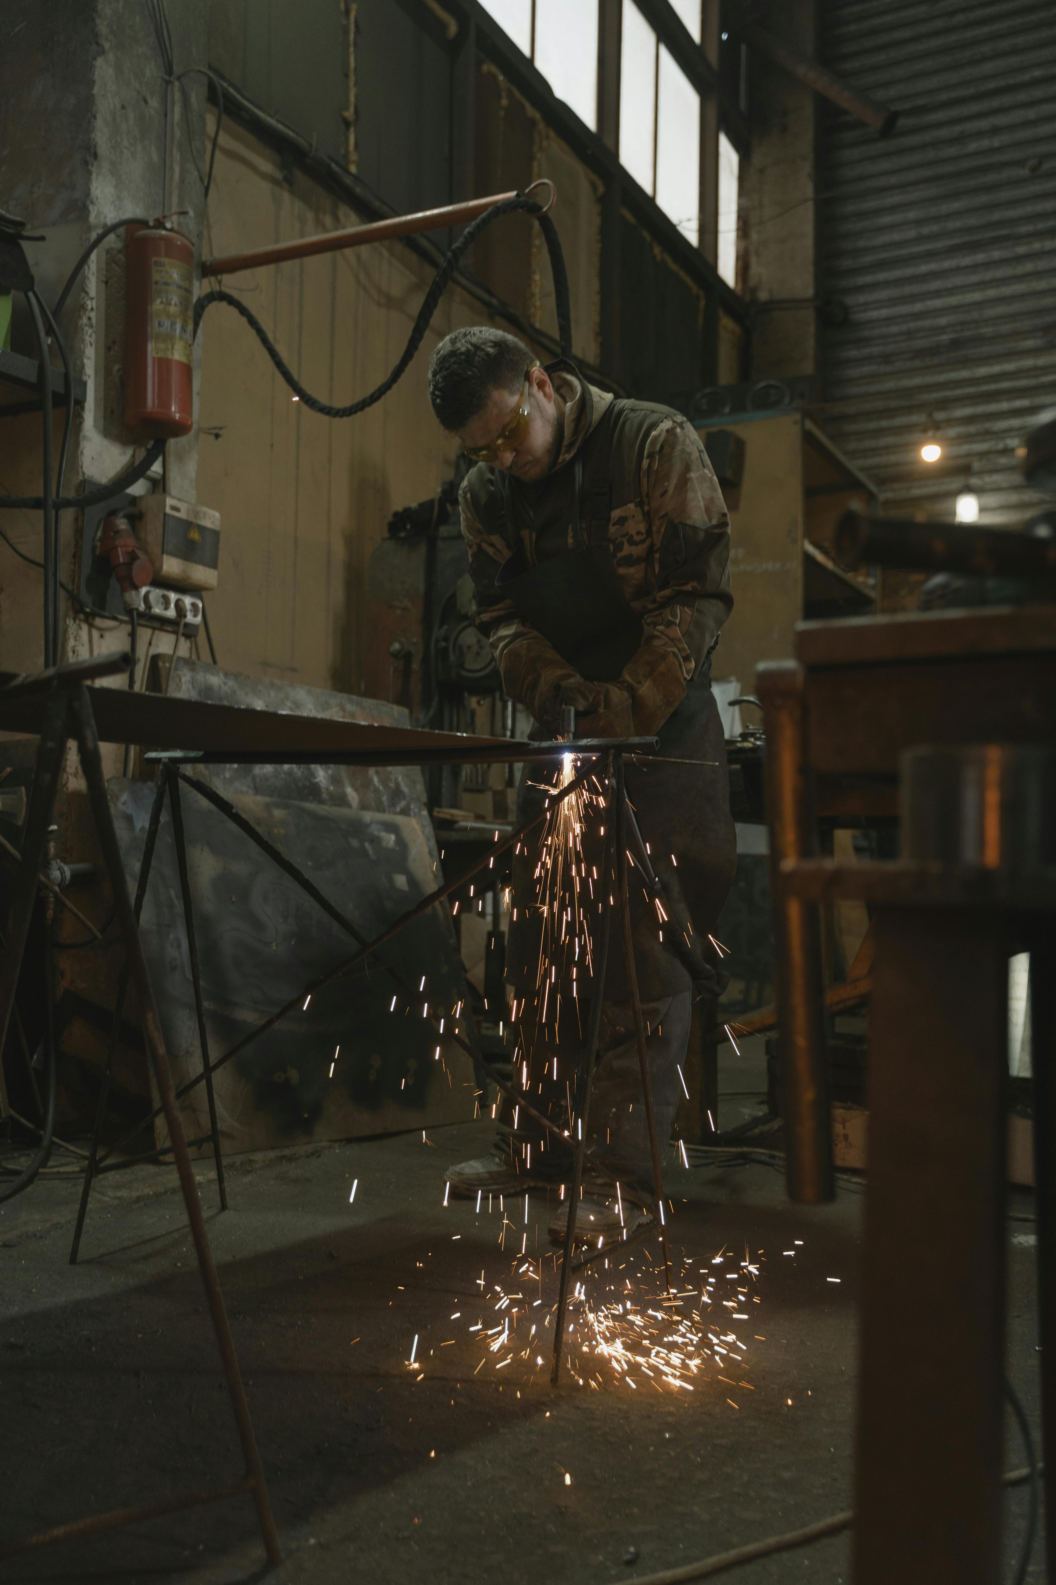
[[[233,307],[236,314],[241,314],[245,323],[250,327],[250,330],[256,333],[268,357],[275,365],[275,368],[282,374],[290,390],[298,393],[306,407],[310,407],[312,412],[321,414],[325,418],[353,418],[356,414],[364,412],[367,407],[372,407],[375,401],[380,401],[382,396],[391,391],[393,385],[396,385],[399,377],[407,369],[408,363],[418,352],[418,347],[421,346],[426,331],[429,330],[429,323],[437,311],[437,304],[448,282],[451,281],[451,276],[458,269],[458,263],[462,254],[469,247],[472,247],[472,244],[477,241],[484,227],[491,225],[492,220],[497,220],[499,216],[510,214],[515,209],[524,209],[527,214],[535,216],[540,227],[543,228],[543,236],[546,239],[546,249],[549,252],[549,263],[554,276],[554,301],[557,304],[557,330],[560,339],[560,352],[562,357],[570,358],[572,309],[568,296],[568,274],[565,271],[565,257],[560,250],[560,238],[557,236],[557,228],[554,227],[554,222],[549,219],[549,216],[543,214],[541,206],[534,198],[529,198],[524,193],[518,193],[515,198],[503,198],[502,203],[492,204],[491,209],[486,209],[484,214],[481,214],[477,220],[472,222],[472,225],[465,227],[459,239],[446,254],[435,276],[432,277],[432,285],[426,292],[426,300],[421,304],[421,309],[418,311],[418,319],[415,320],[415,325],[412,328],[407,346],[404,347],[404,353],[399,363],[396,365],[393,372],[385,380],[382,380],[382,384],[375,387],[375,390],[369,393],[369,396],[361,396],[359,401],[348,403],[344,407],[334,407],[331,403],[325,403],[320,401],[318,396],[312,396],[312,393],[306,390],[304,385],[301,385],[293,369],[290,369],[290,366],[285,363],[282,353],[272,344],[271,338],[268,336],[268,331],[256,319],[256,315],[245,306],[245,303],[242,303],[241,298],[233,296],[230,292],[223,292],[220,287],[217,287],[212,292],[206,292],[206,295],[198,298],[198,301],[195,303],[195,336],[198,334],[198,327],[201,325],[201,319],[206,309],[211,307],[214,303],[226,303],[228,307]]]

